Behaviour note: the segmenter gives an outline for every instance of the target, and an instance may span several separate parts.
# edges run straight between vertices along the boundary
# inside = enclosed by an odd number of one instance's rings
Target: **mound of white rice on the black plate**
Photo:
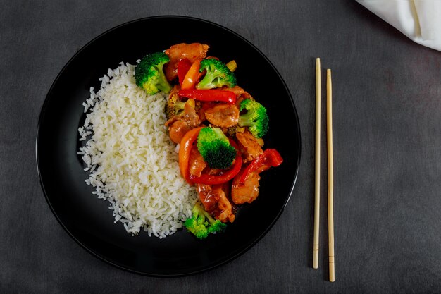
[[[164,107],[167,95],[147,97],[135,84],[135,66],[120,63],[108,70],[101,89],[83,106],[85,124],[78,154],[89,171],[87,185],[108,200],[115,217],[128,233],[141,228],[164,238],[191,216],[196,191],[180,176],[175,144],[167,133]]]

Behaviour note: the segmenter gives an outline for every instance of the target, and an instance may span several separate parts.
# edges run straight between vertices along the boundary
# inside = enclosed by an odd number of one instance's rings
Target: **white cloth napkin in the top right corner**
[[[356,0],[418,44],[441,51],[441,0]]]

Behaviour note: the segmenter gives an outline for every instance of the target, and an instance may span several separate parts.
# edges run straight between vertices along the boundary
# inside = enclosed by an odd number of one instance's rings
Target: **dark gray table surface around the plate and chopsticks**
[[[440,293],[439,51],[349,0],[0,4],[0,293]],[[184,278],[130,274],[83,250],[51,213],[35,164],[39,111],[70,57],[111,27],[164,14],[249,39],[290,87],[302,128],[297,185],[275,226],[241,257]],[[316,56],[333,69],[335,283],[325,171],[311,268]]]

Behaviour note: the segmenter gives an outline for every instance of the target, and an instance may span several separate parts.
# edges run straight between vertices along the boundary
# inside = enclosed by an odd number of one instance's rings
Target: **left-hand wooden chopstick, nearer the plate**
[[[316,59],[316,182],[314,205],[314,240],[312,267],[318,269],[318,236],[320,227],[320,125],[321,125],[321,68]]]

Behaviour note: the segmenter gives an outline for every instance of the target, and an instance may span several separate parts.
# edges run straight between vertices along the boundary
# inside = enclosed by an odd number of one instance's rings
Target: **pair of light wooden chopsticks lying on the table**
[[[316,59],[316,181],[314,205],[314,237],[312,267],[318,268],[318,236],[320,225],[320,125],[321,125],[321,67]],[[326,70],[326,126],[328,137],[328,242],[329,281],[335,281],[334,256],[334,160],[333,160],[333,85],[331,71]]]

